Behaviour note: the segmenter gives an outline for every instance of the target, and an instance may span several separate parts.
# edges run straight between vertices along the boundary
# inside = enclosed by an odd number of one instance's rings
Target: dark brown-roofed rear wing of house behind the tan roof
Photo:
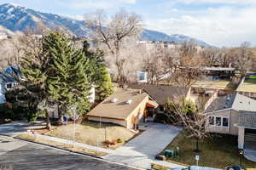
[[[164,113],[167,99],[190,99],[190,88],[154,84],[131,84],[130,88],[142,89],[154,99],[159,105],[154,111],[156,114]]]

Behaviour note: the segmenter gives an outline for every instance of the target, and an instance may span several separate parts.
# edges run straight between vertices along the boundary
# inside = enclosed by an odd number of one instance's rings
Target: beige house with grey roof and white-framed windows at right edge
[[[247,132],[256,134],[256,100],[241,94],[213,99],[207,107],[207,127],[212,133],[238,135],[238,148],[245,146]],[[248,118],[249,117],[249,118]],[[250,122],[247,122],[251,119]],[[256,144],[256,139],[255,139]]]

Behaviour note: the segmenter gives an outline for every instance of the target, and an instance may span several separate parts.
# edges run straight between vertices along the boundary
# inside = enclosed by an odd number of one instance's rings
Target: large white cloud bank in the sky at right
[[[146,25],[168,34],[184,34],[217,46],[237,46],[241,42],[256,45],[256,8],[208,8],[176,16],[146,20]],[[200,14],[200,15],[199,15]]]

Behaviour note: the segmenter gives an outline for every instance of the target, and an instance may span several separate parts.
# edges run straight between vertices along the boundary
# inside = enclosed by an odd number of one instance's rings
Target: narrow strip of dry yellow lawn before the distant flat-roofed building
[[[193,88],[213,88],[221,90],[233,90],[234,87],[230,81],[197,81],[192,85]]]

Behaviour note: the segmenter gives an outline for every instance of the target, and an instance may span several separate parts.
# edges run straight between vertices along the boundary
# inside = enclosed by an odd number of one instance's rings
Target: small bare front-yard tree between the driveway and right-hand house
[[[188,132],[188,138],[196,139],[195,152],[200,152],[199,142],[210,136],[207,128],[207,116],[203,114],[205,101],[168,100],[165,112],[168,119],[176,125],[182,125]],[[174,121],[173,121],[174,120]]]

